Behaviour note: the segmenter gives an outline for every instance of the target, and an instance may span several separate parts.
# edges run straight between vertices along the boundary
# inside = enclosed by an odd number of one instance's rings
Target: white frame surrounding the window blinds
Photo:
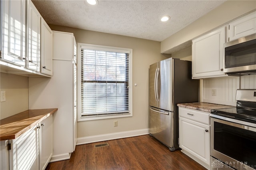
[[[77,53],[77,114],[78,121],[91,121],[91,120],[101,120],[101,119],[112,119],[112,118],[120,118],[120,117],[132,117],[132,49],[121,48],[121,47],[111,47],[105,45],[94,45],[88,43],[77,43],[78,53]],[[112,51],[119,53],[129,53],[129,113],[116,113],[116,114],[106,114],[106,115],[82,115],[82,73],[81,73],[81,50],[82,49],[92,49],[92,50],[100,50],[100,51]]]

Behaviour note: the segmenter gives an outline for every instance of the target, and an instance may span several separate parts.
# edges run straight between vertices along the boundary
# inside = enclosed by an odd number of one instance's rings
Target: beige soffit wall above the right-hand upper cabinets
[[[170,53],[170,49],[176,48],[180,44],[186,44],[185,42],[255,9],[255,0],[227,0],[208,14],[163,40],[161,53]]]

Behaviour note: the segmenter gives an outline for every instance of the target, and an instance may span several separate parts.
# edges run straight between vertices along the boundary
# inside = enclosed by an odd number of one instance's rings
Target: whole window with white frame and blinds
[[[78,121],[132,116],[132,49],[78,48]]]

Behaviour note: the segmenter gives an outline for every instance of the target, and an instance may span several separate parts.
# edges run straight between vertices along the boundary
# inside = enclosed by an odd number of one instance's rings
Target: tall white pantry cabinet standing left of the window
[[[76,64],[74,35],[53,31],[51,79],[29,77],[29,109],[58,108],[53,115],[51,162],[69,159],[76,146]]]

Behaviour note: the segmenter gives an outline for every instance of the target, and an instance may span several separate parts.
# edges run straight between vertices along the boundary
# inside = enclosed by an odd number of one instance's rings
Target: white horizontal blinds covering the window
[[[81,47],[81,115],[129,113],[129,53]]]

